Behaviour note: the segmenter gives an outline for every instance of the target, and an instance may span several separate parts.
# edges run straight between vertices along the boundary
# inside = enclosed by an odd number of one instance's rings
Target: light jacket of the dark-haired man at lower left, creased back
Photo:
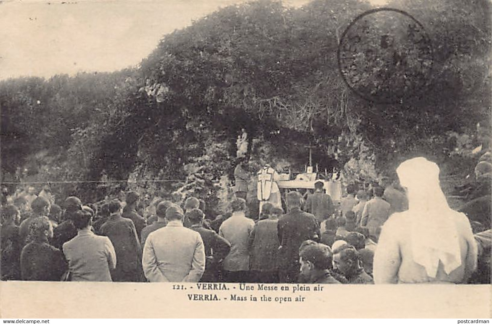
[[[116,266],[116,252],[110,239],[89,230],[63,244],[71,281],[112,281],[110,270]]]

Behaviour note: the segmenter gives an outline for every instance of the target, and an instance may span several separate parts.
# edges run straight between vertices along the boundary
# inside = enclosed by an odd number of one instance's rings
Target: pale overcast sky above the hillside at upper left
[[[0,1],[0,80],[120,70],[147,57],[163,35],[244,1]]]

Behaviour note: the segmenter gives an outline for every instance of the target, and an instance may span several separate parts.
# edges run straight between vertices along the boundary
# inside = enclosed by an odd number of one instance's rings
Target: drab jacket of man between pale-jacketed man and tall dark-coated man
[[[255,271],[277,270],[278,220],[263,219],[258,221],[249,235],[249,251],[251,253],[250,269]]]

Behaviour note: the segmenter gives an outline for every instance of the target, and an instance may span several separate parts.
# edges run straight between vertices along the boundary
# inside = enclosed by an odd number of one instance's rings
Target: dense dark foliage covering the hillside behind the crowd
[[[340,77],[340,37],[369,2],[231,5],[165,35],[136,69],[1,82],[2,173],[27,167],[39,181],[131,177],[148,182],[130,187],[194,192],[216,206],[241,128],[253,165],[303,171],[311,144],[321,170],[344,169],[348,179],[373,179],[415,154],[466,173],[457,166],[480,144],[476,124],[489,127],[490,4],[388,6],[413,15],[431,39],[432,77],[421,96],[373,103]],[[125,188],[119,184],[113,189]],[[97,183],[63,190],[101,198]]]

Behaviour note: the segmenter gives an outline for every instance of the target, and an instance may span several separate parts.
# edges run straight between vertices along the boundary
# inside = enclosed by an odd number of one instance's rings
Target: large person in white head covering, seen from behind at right
[[[374,256],[374,282],[466,283],[477,265],[468,218],[448,206],[439,167],[423,157],[397,169],[408,210],[384,224]]]

